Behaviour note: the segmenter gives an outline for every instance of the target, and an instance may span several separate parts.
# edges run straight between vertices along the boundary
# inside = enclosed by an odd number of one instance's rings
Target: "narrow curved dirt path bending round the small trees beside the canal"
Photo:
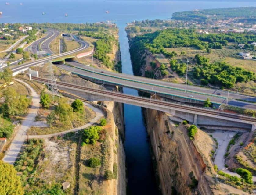
[[[69,133],[69,132],[80,131],[82,129],[87,128],[88,126],[93,125],[94,123],[96,123],[103,116],[103,113],[98,108],[95,108],[95,107],[93,107],[92,105],[90,105],[86,102],[84,102],[84,105],[91,108],[96,113],[96,116],[90,122],[88,122],[87,124],[85,124],[83,126],[80,126],[80,127],[76,127],[74,129],[67,130],[67,131],[62,131],[62,132],[59,132],[59,133],[52,133],[52,134],[47,134],[47,135],[30,135],[30,136],[28,136],[29,139],[31,139],[31,138],[50,138],[50,137],[53,137],[53,136],[58,136],[58,135]]]

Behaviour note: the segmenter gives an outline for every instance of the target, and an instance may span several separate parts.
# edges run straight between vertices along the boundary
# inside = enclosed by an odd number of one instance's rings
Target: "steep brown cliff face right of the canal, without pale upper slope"
[[[162,193],[213,194],[205,176],[207,164],[187,136],[186,127],[171,126],[163,112],[145,109],[144,114]],[[207,150],[210,152],[211,146]],[[198,180],[197,187],[189,187],[195,179]]]

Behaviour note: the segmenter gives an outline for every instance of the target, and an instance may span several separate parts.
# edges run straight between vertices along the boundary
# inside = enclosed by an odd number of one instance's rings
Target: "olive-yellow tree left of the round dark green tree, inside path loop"
[[[55,114],[59,116],[59,121],[63,126],[67,126],[73,119],[73,108],[67,103],[66,98],[60,98],[58,105],[55,107]]]

